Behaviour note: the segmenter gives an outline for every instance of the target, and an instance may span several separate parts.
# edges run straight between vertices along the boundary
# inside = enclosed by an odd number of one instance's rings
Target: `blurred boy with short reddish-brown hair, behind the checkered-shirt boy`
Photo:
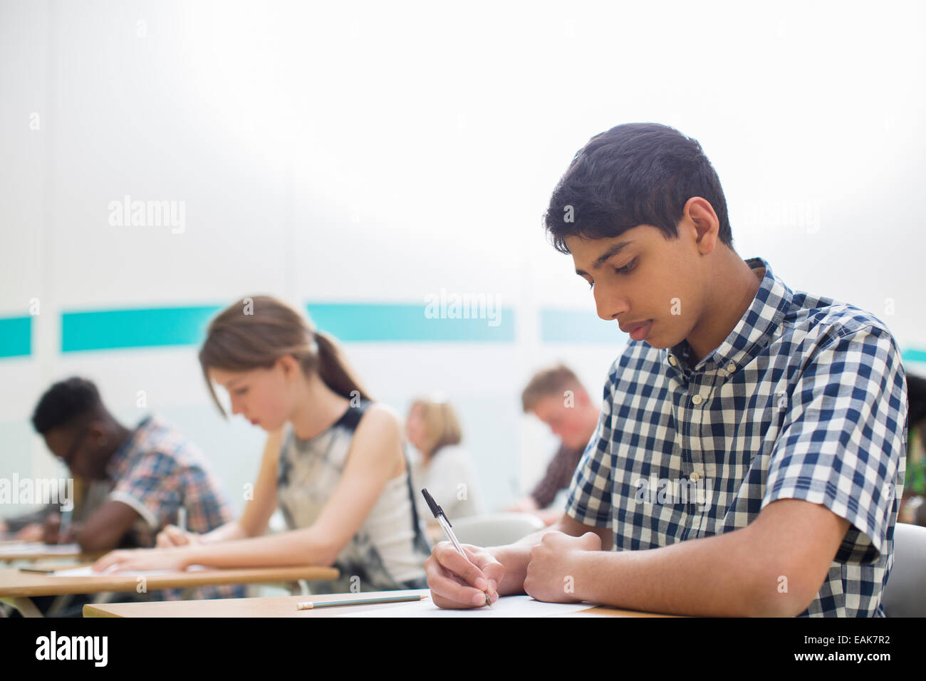
[[[556,523],[563,511],[549,507],[559,491],[569,487],[582,452],[594,435],[600,410],[576,374],[562,364],[534,374],[521,393],[521,406],[525,414],[533,413],[546,423],[560,444],[531,494],[508,511],[533,513],[546,524]]]

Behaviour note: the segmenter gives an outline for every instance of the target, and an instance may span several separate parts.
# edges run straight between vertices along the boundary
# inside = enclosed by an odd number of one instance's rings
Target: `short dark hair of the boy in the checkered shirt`
[[[641,224],[675,239],[692,196],[710,202],[720,241],[732,247],[727,199],[697,140],[659,123],[626,123],[596,134],[572,158],[544,226],[560,253],[569,253],[567,236],[607,238]]]

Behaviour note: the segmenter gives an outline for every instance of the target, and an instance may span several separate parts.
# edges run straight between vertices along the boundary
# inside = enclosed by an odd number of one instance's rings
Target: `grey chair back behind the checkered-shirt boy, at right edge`
[[[894,568],[881,595],[888,617],[926,617],[926,527],[894,526]]]

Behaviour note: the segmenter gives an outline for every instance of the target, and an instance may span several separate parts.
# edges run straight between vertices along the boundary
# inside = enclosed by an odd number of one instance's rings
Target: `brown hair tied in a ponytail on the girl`
[[[342,397],[371,399],[330,334],[317,331],[307,316],[271,296],[242,298],[209,322],[199,364],[213,401],[222,409],[209,381],[209,368],[227,372],[269,369],[290,355],[303,372],[319,377]]]

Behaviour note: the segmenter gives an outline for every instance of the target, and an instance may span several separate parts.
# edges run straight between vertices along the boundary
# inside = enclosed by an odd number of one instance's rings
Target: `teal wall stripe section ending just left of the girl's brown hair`
[[[106,309],[61,315],[61,351],[192,346],[219,307]]]

